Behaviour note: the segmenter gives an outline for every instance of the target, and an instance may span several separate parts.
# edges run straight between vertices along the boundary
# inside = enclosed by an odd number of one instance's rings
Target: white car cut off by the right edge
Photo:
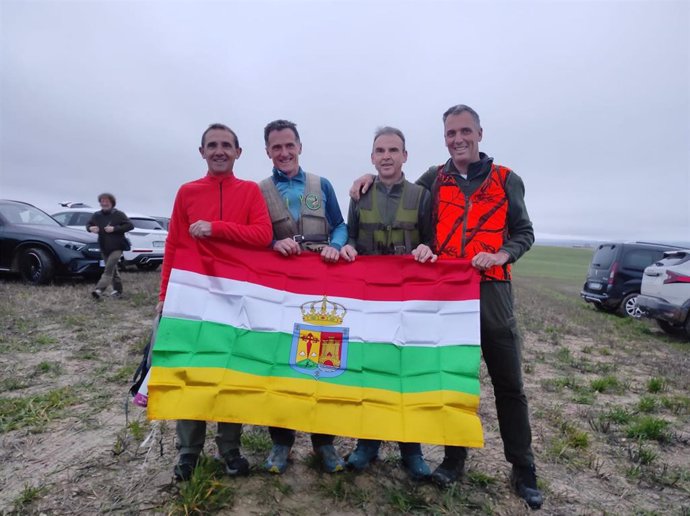
[[[690,338],[690,249],[667,251],[644,270],[637,306],[666,333]]]

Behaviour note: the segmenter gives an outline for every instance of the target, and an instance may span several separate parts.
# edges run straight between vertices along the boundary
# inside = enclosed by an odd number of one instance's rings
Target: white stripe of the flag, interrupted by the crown
[[[173,269],[163,315],[237,328],[292,333],[303,323],[300,306],[319,296]],[[479,345],[479,299],[364,301],[328,297],[345,306],[350,341],[402,346]],[[317,307],[318,309],[318,307]]]

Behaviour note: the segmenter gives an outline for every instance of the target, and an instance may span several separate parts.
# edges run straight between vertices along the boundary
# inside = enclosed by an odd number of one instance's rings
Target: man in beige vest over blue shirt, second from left
[[[273,161],[271,177],[259,183],[273,224],[273,249],[283,256],[302,251],[318,252],[326,262],[337,262],[347,242],[335,191],[328,179],[308,174],[299,165],[302,143],[297,126],[287,120],[274,120],[264,129],[266,154]],[[270,427],[273,448],[264,467],[283,473],[295,442],[295,431]],[[332,435],[312,434],[314,452],[323,469],[342,471],[345,463],[333,446]]]

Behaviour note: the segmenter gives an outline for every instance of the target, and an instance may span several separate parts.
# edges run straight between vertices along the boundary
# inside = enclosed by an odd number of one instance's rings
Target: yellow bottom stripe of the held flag
[[[271,425],[304,432],[482,447],[479,396],[397,393],[222,368],[154,367],[150,419]],[[317,403],[318,402],[318,403]],[[404,410],[403,410],[404,408]]]

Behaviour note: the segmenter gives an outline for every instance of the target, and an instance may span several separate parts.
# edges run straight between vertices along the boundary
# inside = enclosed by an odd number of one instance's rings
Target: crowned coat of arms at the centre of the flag
[[[323,296],[302,304],[300,310],[302,320],[312,324],[295,323],[290,366],[317,380],[343,374],[347,368],[349,330],[334,325],[343,322],[345,307]]]

